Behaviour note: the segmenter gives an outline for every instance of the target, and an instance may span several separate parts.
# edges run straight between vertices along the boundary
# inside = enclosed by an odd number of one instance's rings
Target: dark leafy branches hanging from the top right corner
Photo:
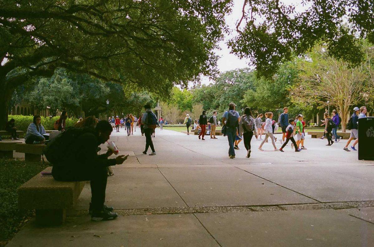
[[[295,8],[302,3],[303,10]],[[243,0],[236,37],[228,45],[248,58],[259,75],[271,77],[293,56],[326,43],[328,54],[358,65],[364,59],[362,38],[374,43],[373,0]]]

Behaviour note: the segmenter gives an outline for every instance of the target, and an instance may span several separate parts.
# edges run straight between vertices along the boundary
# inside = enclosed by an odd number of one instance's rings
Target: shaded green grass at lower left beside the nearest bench
[[[0,159],[0,246],[4,246],[33,214],[18,209],[18,187],[46,166],[41,162]]]

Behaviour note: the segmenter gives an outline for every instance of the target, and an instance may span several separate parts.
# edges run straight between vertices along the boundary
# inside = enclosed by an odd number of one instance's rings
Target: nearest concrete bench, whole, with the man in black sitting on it
[[[44,171],[52,171],[52,167]],[[36,222],[40,225],[61,225],[65,222],[66,210],[77,204],[85,186],[83,182],[59,182],[52,176],[38,173],[18,188],[18,207],[36,211]]]

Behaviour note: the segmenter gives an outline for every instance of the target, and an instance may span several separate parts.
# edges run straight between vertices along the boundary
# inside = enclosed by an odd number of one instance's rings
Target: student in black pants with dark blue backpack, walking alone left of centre
[[[143,154],[147,154],[148,147],[151,147],[152,153],[149,155],[156,155],[156,151],[154,151],[153,147],[153,141],[152,141],[152,134],[154,132],[154,129],[157,127],[157,117],[152,112],[151,106],[149,104],[146,104],[144,106],[145,112],[143,113],[143,116],[141,118],[142,124],[144,124],[144,135],[145,135],[145,150],[143,151]]]

